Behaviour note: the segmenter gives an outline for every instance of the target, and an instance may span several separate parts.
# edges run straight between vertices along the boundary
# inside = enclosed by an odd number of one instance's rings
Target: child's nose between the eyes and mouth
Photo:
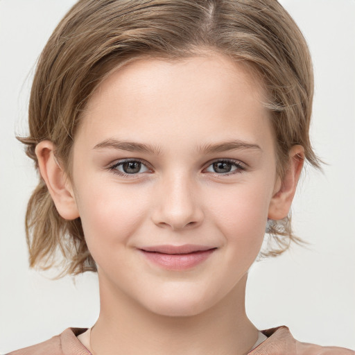
[[[159,182],[153,222],[159,227],[183,230],[198,227],[204,214],[198,199],[198,189],[184,175]]]

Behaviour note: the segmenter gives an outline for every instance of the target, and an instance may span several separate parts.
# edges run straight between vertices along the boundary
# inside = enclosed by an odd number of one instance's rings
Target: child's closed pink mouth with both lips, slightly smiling
[[[140,248],[139,252],[150,261],[166,270],[188,270],[202,263],[217,248],[206,245],[154,245]]]

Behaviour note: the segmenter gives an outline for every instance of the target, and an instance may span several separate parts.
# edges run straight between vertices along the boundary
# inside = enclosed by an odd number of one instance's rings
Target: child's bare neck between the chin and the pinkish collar
[[[100,280],[101,311],[92,329],[95,355],[239,355],[257,341],[245,314],[245,275],[232,291],[197,315],[172,317],[153,313],[110,283]]]

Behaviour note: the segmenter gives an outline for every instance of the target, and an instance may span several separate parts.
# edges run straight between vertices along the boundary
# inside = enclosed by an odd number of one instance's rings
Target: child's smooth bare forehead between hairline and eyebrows
[[[183,60],[143,58],[110,74],[89,100],[79,137],[119,135],[172,146],[186,138],[259,139],[270,130],[263,88],[241,63],[211,53]],[[241,137],[243,136],[243,137]]]

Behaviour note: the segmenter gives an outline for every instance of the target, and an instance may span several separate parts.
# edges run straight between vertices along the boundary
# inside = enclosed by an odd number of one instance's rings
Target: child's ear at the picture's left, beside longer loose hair
[[[60,167],[54,155],[54,146],[51,141],[41,141],[37,144],[35,153],[40,167],[40,173],[55,207],[62,218],[73,220],[79,217],[76,199],[73,193],[73,187],[67,174]]]

